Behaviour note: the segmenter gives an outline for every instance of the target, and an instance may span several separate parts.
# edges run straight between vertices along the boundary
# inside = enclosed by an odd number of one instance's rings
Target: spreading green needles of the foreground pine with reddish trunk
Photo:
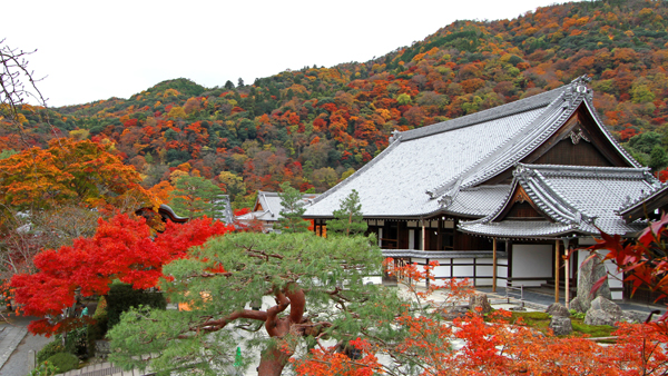
[[[363,328],[373,328],[379,338],[400,340],[407,334],[390,323],[403,309],[402,300],[383,286],[364,283],[366,276],[380,275],[381,260],[377,246],[364,237],[325,239],[311,232],[237,232],[212,239],[194,249],[190,258],[164,268],[174,280],[163,281],[160,288],[168,291],[171,303],[187,304],[189,310],[141,309],[124,314],[121,323],[109,330],[111,347],[116,349],[110,362],[126,368],[150,366],[165,374],[197,367],[204,375],[216,375],[235,363],[237,346],[266,349],[281,342],[288,347],[313,342],[299,330],[283,338],[267,338],[263,319],[239,318],[223,328],[196,330],[206,320],[230,318],[235,313],[263,315],[278,309],[272,291],[303,291],[306,314],[299,321],[303,327],[328,323],[320,328],[313,326],[325,338],[353,339]],[[216,265],[228,273],[206,271]],[[345,301],[345,309],[335,299]],[[259,311],[249,308],[252,301],[263,301]],[[283,309],[281,323],[297,308],[291,304]],[[258,330],[236,333],[243,328]],[[158,356],[148,364],[136,358],[148,353]]]

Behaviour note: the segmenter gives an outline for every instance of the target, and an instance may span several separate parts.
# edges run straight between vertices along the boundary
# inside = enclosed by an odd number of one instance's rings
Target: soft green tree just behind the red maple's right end
[[[225,199],[220,187],[199,176],[179,177],[171,191],[169,206],[179,216],[197,218],[207,216],[223,219]]]

